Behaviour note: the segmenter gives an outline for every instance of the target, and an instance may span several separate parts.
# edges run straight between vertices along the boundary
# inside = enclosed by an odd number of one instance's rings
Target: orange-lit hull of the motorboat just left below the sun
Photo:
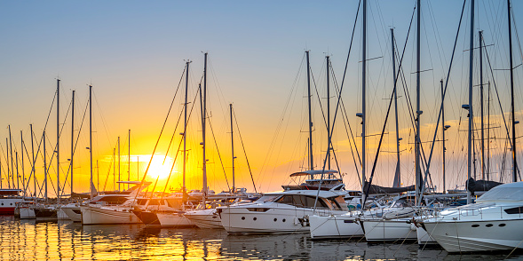
[[[103,209],[99,207],[82,206],[82,224],[139,224],[142,223],[136,215],[127,209]]]

